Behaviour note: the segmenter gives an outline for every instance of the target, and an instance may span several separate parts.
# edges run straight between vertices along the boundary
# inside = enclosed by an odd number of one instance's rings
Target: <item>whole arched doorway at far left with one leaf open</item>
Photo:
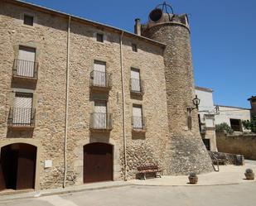
[[[34,189],[36,146],[15,143],[1,148],[0,189]]]

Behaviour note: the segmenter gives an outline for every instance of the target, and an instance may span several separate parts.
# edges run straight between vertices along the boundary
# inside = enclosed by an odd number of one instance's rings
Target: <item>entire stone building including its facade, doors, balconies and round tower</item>
[[[0,22],[0,189],[212,170],[186,14],[154,9],[133,34],[1,0]]]

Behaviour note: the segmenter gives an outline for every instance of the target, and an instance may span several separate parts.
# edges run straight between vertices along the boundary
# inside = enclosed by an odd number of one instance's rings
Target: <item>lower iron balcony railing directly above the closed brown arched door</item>
[[[94,130],[112,130],[113,128],[112,113],[91,113],[89,128]]]

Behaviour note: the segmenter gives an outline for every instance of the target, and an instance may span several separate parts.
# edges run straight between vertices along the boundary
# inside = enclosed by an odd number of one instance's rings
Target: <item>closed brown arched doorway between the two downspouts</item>
[[[113,180],[113,146],[90,143],[84,146],[84,183]]]

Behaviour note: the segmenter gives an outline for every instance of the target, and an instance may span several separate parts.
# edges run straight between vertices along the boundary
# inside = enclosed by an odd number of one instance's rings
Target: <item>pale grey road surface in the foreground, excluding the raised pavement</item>
[[[1,206],[254,206],[256,183],[215,186],[126,186],[22,199]]]

